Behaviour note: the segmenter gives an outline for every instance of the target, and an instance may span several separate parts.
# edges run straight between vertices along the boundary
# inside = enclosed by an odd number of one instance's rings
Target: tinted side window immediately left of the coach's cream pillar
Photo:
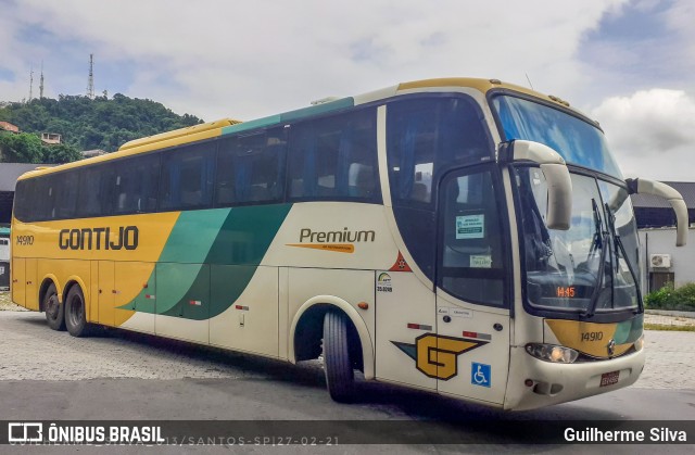
[[[291,199],[377,199],[376,110],[293,125],[288,180]]]

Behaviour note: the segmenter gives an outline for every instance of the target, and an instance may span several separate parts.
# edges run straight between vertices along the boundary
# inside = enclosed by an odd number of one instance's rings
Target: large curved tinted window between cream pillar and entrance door
[[[387,110],[387,148],[399,230],[418,267],[433,279],[434,189],[446,170],[492,160],[482,112],[463,96],[392,102]]]

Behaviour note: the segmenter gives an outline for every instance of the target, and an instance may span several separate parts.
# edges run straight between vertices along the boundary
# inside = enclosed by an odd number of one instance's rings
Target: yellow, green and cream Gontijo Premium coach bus
[[[16,186],[12,299],[94,326],[505,409],[644,366],[630,193],[599,125],[496,79],[446,78],[224,119]]]

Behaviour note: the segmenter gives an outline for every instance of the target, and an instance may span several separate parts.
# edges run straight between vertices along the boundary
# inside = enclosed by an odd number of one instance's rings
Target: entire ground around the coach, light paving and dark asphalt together
[[[365,426],[404,420],[463,432],[471,441],[484,442],[365,447],[340,445],[339,441],[338,446],[330,447],[177,447],[192,453],[692,453],[693,445],[520,445],[494,429],[481,431],[465,424],[451,424],[462,416],[490,421],[493,427],[495,421],[509,418],[695,420],[695,332],[646,333],[647,367],[635,386],[573,403],[509,414],[379,383],[361,384],[362,400],[341,405],[328,396],[317,363],[292,366],[119,330],[75,339],[50,330],[42,314],[0,312],[0,419],[356,420]],[[307,428],[307,433],[311,430]],[[5,446],[0,452],[4,448],[27,450]],[[29,448],[31,453],[73,453],[76,447]],[[94,447],[77,448],[90,453]],[[146,450],[165,453],[168,448]],[[142,447],[117,447],[118,453],[141,451]]]

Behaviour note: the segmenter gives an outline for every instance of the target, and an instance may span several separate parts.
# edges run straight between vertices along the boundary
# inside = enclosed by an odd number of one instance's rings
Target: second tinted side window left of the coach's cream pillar
[[[285,147],[283,128],[222,140],[216,205],[281,200]]]

